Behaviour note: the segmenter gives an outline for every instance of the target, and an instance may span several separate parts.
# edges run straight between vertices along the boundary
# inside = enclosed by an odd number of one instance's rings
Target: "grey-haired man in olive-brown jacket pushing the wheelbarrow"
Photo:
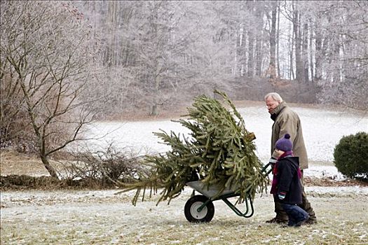
[[[311,204],[306,198],[304,191],[303,181],[303,169],[308,168],[308,157],[306,153],[306,146],[304,144],[303,132],[301,131],[300,118],[282,101],[280,94],[271,92],[264,97],[268,113],[271,114],[271,119],[274,121],[272,125],[272,137],[271,137],[271,154],[275,150],[275,143],[283,137],[286,133],[290,134],[293,144],[294,156],[299,157],[299,164],[301,169],[301,188],[302,188],[302,204],[301,208],[304,209],[310,216],[307,223],[316,223],[315,212],[313,211]],[[275,158],[271,158],[270,162],[275,162]],[[279,202],[275,202],[275,218],[267,223],[287,223],[288,218],[285,211],[282,209]]]

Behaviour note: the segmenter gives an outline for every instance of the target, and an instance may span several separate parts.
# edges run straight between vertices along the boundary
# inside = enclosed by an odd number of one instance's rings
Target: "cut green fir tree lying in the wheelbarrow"
[[[171,151],[147,155],[143,162],[146,170],[137,172],[137,176],[125,184],[125,191],[137,189],[132,200],[134,205],[140,195],[144,200],[147,189],[150,196],[162,189],[158,202],[168,200],[170,203],[187,182],[196,179],[205,186],[219,186],[218,194],[236,186],[238,202],[243,202],[247,195],[253,198],[266,188],[268,181],[261,172],[263,166],[254,153],[254,134],[245,129],[243,117],[226,94],[214,92],[221,95],[224,104],[201,95],[188,109],[189,118],[175,121],[191,130],[190,137],[163,130],[154,133],[171,146]]]

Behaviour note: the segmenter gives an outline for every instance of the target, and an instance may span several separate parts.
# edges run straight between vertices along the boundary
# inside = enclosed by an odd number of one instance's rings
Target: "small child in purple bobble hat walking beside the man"
[[[289,217],[288,226],[300,226],[308,221],[309,215],[298,205],[301,204],[301,171],[299,158],[292,153],[290,135],[276,141],[273,156],[277,162],[273,167],[271,194],[275,202],[280,202]]]

